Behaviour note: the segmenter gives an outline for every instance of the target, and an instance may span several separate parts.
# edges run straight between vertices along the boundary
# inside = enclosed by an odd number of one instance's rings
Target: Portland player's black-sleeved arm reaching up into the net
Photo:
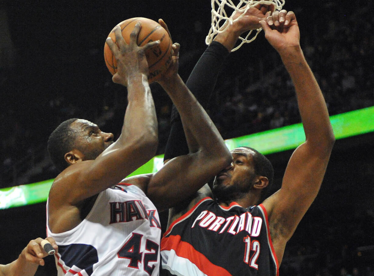
[[[197,101],[206,108],[217,81],[221,66],[235,46],[239,35],[250,29],[260,28],[260,20],[273,6],[258,5],[249,9],[245,16],[235,21],[224,32],[217,34],[214,41],[196,63],[186,85],[194,94]],[[237,18],[240,12],[234,16]],[[162,22],[160,22],[162,24]],[[163,24],[162,24],[163,25]],[[165,25],[164,25],[165,26]],[[188,153],[187,141],[180,116],[173,105],[171,117],[171,131],[166,144],[164,160]]]

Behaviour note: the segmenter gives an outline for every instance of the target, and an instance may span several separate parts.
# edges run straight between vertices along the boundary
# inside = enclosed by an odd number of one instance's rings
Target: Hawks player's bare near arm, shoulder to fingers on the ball
[[[124,176],[152,158],[157,149],[157,118],[148,85],[148,63],[144,51],[159,42],[144,47],[136,44],[140,25],[135,26],[127,45],[120,29],[116,29],[116,44],[108,38],[117,59],[113,81],[127,85],[128,106],[120,137],[95,160],[79,161],[65,169],[54,181],[49,194],[50,227],[65,225],[58,231],[71,229],[79,223],[75,207],[83,200],[117,184]],[[64,208],[65,206],[65,208]],[[72,213],[69,213],[72,212]],[[71,217],[78,219],[72,222]],[[55,232],[56,229],[52,229]]]

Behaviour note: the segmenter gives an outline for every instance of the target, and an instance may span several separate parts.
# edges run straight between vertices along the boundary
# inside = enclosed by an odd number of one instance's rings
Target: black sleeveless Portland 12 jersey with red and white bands
[[[243,208],[203,198],[161,240],[162,275],[278,276],[262,204]]]

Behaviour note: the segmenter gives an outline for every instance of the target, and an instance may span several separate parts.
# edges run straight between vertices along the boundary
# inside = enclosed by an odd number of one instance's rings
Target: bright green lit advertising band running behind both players
[[[336,139],[373,132],[374,106],[334,115],[330,117],[330,120]],[[305,135],[301,123],[225,140],[230,150],[240,146],[250,146],[262,154],[291,150],[304,141]],[[163,155],[155,156],[130,176],[157,172],[162,165]],[[49,179],[33,184],[0,189],[0,209],[46,201],[52,182],[53,179]]]

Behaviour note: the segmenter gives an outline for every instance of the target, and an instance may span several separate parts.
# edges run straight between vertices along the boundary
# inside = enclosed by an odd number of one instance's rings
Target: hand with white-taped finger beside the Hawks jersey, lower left
[[[34,264],[44,266],[43,258],[46,257],[48,255],[48,253],[46,251],[44,251],[42,245],[40,245],[40,243],[43,240],[44,239],[42,239],[42,238],[37,238],[37,239],[31,240],[28,243],[28,245],[24,248],[24,250],[22,250],[22,252],[20,254],[20,257],[24,258],[26,261],[28,261],[30,263],[34,263]],[[58,246],[57,246],[55,240],[52,237],[48,237],[48,238],[46,238],[46,240],[50,242],[52,247],[57,252],[58,251]]]

